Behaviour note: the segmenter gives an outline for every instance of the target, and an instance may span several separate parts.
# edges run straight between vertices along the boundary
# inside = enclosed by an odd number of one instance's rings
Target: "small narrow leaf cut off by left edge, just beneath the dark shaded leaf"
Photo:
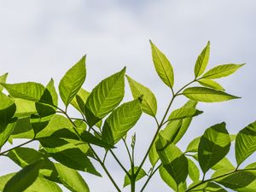
[[[2,124],[0,123],[0,149],[2,148],[3,144],[6,143],[12,134],[12,132],[15,130],[15,124],[17,119],[11,119],[9,121],[9,124]]]

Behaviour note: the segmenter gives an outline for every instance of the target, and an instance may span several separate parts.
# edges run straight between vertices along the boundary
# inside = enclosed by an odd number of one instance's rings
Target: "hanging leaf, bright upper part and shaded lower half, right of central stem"
[[[159,136],[156,143],[156,150],[160,156],[166,171],[172,176],[177,185],[186,180],[188,170],[188,160],[184,154],[173,143],[166,143],[166,140]]]

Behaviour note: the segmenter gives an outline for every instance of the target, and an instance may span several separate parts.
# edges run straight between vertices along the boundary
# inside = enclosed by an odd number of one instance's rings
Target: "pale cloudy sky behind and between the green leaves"
[[[197,55],[210,40],[207,69],[219,64],[247,63],[229,78],[218,81],[228,93],[242,98],[200,103],[198,108],[204,113],[193,120],[178,143],[184,149],[193,137],[200,136],[211,125],[225,121],[228,131],[236,133],[256,120],[255,10],[253,0],[0,0],[0,74],[8,72],[9,83],[47,84],[53,78],[57,85],[67,69],[86,54],[84,89],[92,90],[101,79],[126,66],[127,74],[154,92],[160,118],[172,95],[154,71],[148,40],[171,61],[174,90],[193,79]],[[131,100],[128,84],[126,90],[125,100]],[[185,101],[178,98],[172,109]],[[73,110],[70,113],[76,115]],[[131,134],[135,131],[139,163],[142,151],[153,137],[154,120],[143,115]],[[117,154],[127,165],[123,146],[119,147]],[[234,154],[229,155],[235,163]],[[247,162],[250,160],[253,157]],[[7,159],[0,159],[0,163],[1,175],[18,170]],[[110,156],[107,163],[121,186],[124,173],[113,165]],[[114,191],[106,176],[82,175],[91,191]],[[156,190],[172,191],[159,176],[146,189]]]

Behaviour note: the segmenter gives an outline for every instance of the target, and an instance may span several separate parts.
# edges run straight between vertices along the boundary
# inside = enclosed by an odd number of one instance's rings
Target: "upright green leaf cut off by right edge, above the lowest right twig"
[[[256,121],[243,128],[236,136],[236,162],[240,165],[256,150]]]

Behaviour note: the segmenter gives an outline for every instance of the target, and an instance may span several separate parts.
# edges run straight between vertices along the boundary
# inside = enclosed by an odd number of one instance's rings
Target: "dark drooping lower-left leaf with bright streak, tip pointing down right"
[[[38,140],[47,153],[64,166],[101,176],[91,164],[87,155],[73,143],[56,137],[45,137]]]

